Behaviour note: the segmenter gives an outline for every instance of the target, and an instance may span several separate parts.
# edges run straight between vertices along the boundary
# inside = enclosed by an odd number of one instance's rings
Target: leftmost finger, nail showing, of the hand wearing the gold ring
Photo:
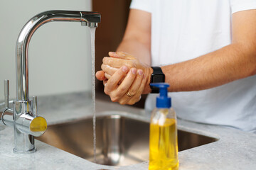
[[[119,81],[122,80],[123,77],[126,76],[128,72],[128,68],[126,66],[121,67],[115,72],[110,79],[107,81],[107,85],[105,85],[105,94],[110,94],[114,89],[117,88]],[[111,97],[111,96],[110,96]]]

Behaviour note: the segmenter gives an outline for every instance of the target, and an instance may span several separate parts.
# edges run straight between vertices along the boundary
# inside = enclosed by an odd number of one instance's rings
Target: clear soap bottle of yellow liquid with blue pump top
[[[151,113],[149,134],[149,170],[178,169],[176,113],[168,97],[169,84],[150,84],[159,88],[156,108]]]

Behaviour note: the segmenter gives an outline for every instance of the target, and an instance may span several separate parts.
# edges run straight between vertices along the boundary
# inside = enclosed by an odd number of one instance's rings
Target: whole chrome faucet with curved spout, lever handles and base
[[[74,21],[80,22],[82,26],[97,27],[100,13],[46,11],[34,16],[23,26],[16,42],[16,100],[9,101],[9,80],[5,80],[5,102],[0,118],[0,123],[14,126],[14,152],[18,154],[36,152],[34,136],[43,135],[47,128],[46,120],[37,115],[37,98],[29,98],[28,45],[33,33],[50,21]],[[13,109],[9,103],[13,104]]]

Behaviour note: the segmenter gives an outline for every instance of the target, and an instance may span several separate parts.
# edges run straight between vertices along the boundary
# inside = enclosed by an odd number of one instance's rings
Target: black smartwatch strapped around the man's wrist
[[[161,67],[151,67],[153,69],[153,73],[151,74],[150,83],[164,83],[165,81],[165,75],[161,70]],[[159,94],[159,89],[150,86],[151,88],[151,94]]]

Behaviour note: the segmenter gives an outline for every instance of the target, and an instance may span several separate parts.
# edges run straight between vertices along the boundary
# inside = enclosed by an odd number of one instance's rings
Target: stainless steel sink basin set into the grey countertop
[[[36,139],[94,162],[92,118],[58,125]],[[96,119],[96,163],[114,166],[137,164],[149,159],[149,123],[122,115]],[[182,151],[217,139],[178,130],[178,150]]]

